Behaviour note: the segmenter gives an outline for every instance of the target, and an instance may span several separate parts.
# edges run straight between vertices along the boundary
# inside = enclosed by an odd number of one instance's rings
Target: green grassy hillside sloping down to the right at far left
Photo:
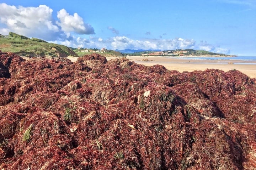
[[[27,38],[26,36],[9,33],[0,35],[0,50],[2,52],[13,52],[19,56],[33,57],[67,57],[77,56],[69,47],[54,43],[48,43],[37,38]]]

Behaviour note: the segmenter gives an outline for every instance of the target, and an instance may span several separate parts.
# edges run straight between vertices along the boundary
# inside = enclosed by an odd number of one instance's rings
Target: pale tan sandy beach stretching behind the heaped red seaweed
[[[111,60],[116,57],[106,57]],[[159,56],[127,56],[131,61],[145,66],[154,66],[160,64],[168,70],[177,70],[179,72],[192,72],[194,70],[206,70],[214,68],[225,72],[236,69],[248,75],[250,78],[256,78],[256,61],[241,61],[241,60],[189,60],[178,57],[159,57]],[[142,61],[143,59],[149,61]],[[69,57],[71,61],[76,61],[77,57]]]

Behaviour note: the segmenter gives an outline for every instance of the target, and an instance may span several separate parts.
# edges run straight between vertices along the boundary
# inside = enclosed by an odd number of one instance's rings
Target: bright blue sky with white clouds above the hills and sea
[[[256,56],[256,0],[0,1],[10,31],[69,47]]]

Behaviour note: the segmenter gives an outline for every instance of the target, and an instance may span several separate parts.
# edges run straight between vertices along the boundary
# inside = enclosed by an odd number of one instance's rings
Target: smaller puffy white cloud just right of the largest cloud
[[[69,15],[65,9],[62,9],[58,11],[57,17],[60,20],[60,22],[56,22],[57,25],[66,33],[75,32],[78,34],[95,34],[94,28],[90,24],[84,23],[78,13],[74,13],[72,16]]]

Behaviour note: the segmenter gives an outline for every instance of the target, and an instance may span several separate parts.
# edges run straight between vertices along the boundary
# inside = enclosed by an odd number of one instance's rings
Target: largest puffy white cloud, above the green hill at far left
[[[58,32],[58,26],[52,23],[52,12],[46,5],[38,7],[10,6],[0,4],[0,22],[5,24],[5,33],[16,32],[26,36],[43,35]]]

